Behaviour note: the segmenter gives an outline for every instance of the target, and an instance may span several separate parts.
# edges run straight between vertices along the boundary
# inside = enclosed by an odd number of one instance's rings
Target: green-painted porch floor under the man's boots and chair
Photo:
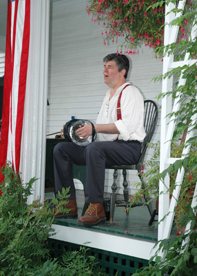
[[[45,193],[45,199],[51,199],[53,193]],[[105,195],[109,197],[109,195]],[[118,195],[120,197],[120,195]],[[76,200],[78,206],[78,216],[81,216],[84,204],[83,190],[76,190]],[[153,206],[154,208],[154,206]],[[61,226],[71,226],[76,228],[87,228],[88,230],[107,232],[112,235],[122,235],[127,237],[136,237],[138,239],[148,239],[157,241],[158,228],[157,221],[154,221],[152,226],[149,226],[149,211],[147,206],[137,206],[129,210],[129,215],[126,215],[124,207],[116,207],[114,212],[113,224],[107,221],[105,224],[98,226],[82,226],[78,225],[78,219],[55,219],[54,224]],[[158,219],[156,215],[155,219]],[[176,228],[173,226],[172,235],[176,235]]]

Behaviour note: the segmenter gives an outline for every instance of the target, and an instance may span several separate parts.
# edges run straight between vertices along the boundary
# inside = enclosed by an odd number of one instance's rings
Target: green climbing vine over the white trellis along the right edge
[[[167,1],[170,2],[169,0]],[[175,3],[175,1],[172,1]],[[180,1],[178,1],[180,2]],[[147,267],[141,268],[134,273],[134,276],[158,276],[158,275],[175,275],[190,276],[196,275],[197,269],[197,231],[196,231],[196,208],[191,208],[191,199],[194,195],[194,187],[197,182],[197,137],[192,137],[187,141],[185,147],[189,147],[189,153],[183,155],[183,144],[177,144],[178,137],[185,138],[186,132],[194,130],[196,134],[196,85],[197,85],[197,68],[196,68],[196,37],[191,39],[191,27],[196,25],[196,8],[197,1],[188,1],[191,6],[186,6],[182,11],[174,8],[171,12],[183,12],[174,21],[170,23],[172,26],[183,28],[185,21],[185,35],[182,41],[176,41],[167,46],[161,46],[156,51],[164,57],[174,55],[174,61],[184,61],[178,68],[169,70],[165,75],[161,75],[154,79],[174,79],[174,87],[165,93],[161,93],[158,98],[172,97],[173,101],[177,101],[180,108],[172,111],[168,117],[176,123],[174,137],[172,138],[172,157],[181,159],[171,164],[161,174],[158,179],[164,179],[166,175],[170,175],[172,188],[176,186],[176,175],[178,170],[184,169],[185,175],[180,190],[180,197],[176,208],[176,223],[178,225],[177,236],[169,237],[160,242],[159,248],[152,259],[149,260]],[[182,34],[183,35],[183,30]],[[190,63],[187,63],[187,54]],[[182,79],[182,82],[179,82]],[[184,139],[183,139],[184,141]],[[154,166],[153,166],[154,168]],[[152,172],[154,169],[151,169]],[[190,229],[186,232],[185,225],[191,223]],[[183,232],[181,230],[183,229]],[[160,255],[163,254],[163,258]]]

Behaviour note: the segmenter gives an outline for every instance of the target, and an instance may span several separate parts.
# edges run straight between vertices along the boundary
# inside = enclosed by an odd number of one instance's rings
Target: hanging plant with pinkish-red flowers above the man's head
[[[165,2],[149,8],[152,0],[88,0],[87,13],[92,14],[94,23],[103,21],[103,41],[123,37],[128,53],[143,42],[150,48],[163,43]],[[123,47],[123,45],[121,46]]]

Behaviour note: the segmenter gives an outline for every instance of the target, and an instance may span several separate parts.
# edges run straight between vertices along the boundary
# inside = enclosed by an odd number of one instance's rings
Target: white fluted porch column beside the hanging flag
[[[32,177],[33,200],[44,199],[45,136],[48,92],[48,44],[50,1],[31,1],[30,52],[28,61],[20,172],[23,183]]]

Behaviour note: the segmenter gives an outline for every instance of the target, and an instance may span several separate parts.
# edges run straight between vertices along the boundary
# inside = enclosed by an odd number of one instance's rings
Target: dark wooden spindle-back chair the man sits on
[[[114,208],[115,206],[129,206],[129,190],[128,190],[128,183],[127,183],[127,171],[126,170],[137,170],[138,171],[138,177],[141,180],[141,184],[143,187],[145,187],[145,182],[143,181],[143,161],[145,159],[145,152],[147,150],[147,144],[151,141],[152,135],[154,134],[154,130],[156,128],[156,123],[158,120],[158,106],[156,103],[152,100],[145,100],[145,111],[144,111],[144,128],[146,132],[146,137],[141,145],[141,157],[138,161],[138,164],[134,165],[121,165],[121,166],[109,166],[106,167],[108,169],[114,170],[114,180],[112,184],[112,193],[110,196],[110,224],[112,224],[113,218],[114,218]],[[123,170],[123,201],[117,201],[116,200],[116,190],[117,190],[117,177],[118,177],[118,170]],[[149,201],[149,197],[145,197],[145,202],[147,203]],[[141,206],[143,203],[134,204],[132,207]],[[151,219],[149,221],[149,225],[152,224],[152,217],[154,210],[152,208],[151,202],[147,204],[147,208],[149,210],[149,214],[151,216]],[[126,211],[128,215],[128,211]]]

